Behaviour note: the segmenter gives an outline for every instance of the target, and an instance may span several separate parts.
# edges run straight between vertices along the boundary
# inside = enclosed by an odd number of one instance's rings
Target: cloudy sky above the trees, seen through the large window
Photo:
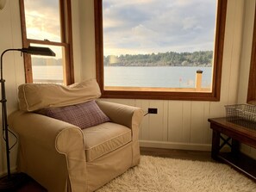
[[[215,0],[103,0],[104,55],[209,51]]]

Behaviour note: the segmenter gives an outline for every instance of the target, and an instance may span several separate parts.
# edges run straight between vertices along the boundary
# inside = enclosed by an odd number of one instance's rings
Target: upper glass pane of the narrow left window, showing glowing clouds
[[[24,0],[27,38],[60,42],[59,0]]]

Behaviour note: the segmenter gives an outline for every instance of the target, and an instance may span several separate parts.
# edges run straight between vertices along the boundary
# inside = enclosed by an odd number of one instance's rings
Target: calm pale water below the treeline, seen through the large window
[[[202,87],[210,87],[211,67],[104,66],[105,86],[193,88],[197,70],[203,71]]]

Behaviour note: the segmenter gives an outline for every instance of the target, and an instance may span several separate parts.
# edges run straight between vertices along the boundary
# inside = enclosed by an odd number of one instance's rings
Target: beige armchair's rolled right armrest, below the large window
[[[97,100],[97,105],[109,117],[110,121],[129,128],[140,126],[143,118],[143,110],[141,108],[100,100]]]

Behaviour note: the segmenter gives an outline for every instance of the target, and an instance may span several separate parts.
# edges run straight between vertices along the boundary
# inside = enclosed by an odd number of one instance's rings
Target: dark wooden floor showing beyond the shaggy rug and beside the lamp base
[[[161,158],[179,158],[179,159],[190,159],[190,160],[198,160],[198,161],[214,161],[210,157],[210,152],[140,147],[140,154],[161,157]],[[12,190],[12,192],[46,192],[46,191],[47,191],[46,189],[42,188],[39,183],[34,182],[34,180],[30,177],[27,178],[26,183],[24,183],[22,187],[16,190]]]

